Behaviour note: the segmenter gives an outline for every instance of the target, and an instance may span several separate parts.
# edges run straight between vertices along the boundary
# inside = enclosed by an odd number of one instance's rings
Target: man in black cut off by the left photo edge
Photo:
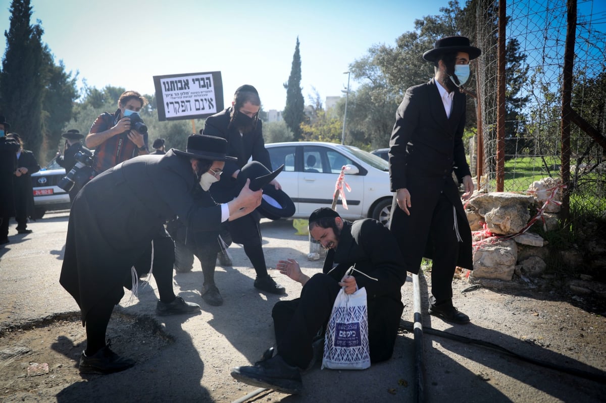
[[[8,223],[15,215],[13,177],[17,169],[17,151],[21,147],[15,139],[7,137],[10,124],[0,116],[0,244],[8,243]]]

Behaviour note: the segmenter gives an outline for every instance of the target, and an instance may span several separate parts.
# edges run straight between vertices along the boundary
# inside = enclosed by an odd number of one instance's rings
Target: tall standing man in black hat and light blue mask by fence
[[[480,54],[464,36],[439,39],[423,54],[433,62],[435,77],[406,91],[389,152],[396,192],[390,229],[409,272],[419,272],[422,257],[432,259],[429,313],[458,324],[469,317],[453,306],[454,269],[473,269],[471,231],[452,178],[454,170],[467,200],[473,182],[462,141],[465,94],[458,89],[470,75],[469,62]]]

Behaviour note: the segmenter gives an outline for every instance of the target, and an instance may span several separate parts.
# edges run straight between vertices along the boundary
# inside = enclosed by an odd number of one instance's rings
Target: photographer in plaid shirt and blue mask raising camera
[[[95,149],[95,175],[136,156],[149,154],[147,126],[139,116],[145,105],[147,99],[137,91],[125,91],[113,115],[105,112],[95,119],[85,140],[88,148]]]

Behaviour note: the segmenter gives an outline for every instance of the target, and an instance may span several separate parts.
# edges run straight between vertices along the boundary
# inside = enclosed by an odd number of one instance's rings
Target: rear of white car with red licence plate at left
[[[70,208],[70,195],[57,186],[64,176],[65,169],[61,168],[54,159],[45,168],[32,174],[36,220],[42,218],[47,211]]]

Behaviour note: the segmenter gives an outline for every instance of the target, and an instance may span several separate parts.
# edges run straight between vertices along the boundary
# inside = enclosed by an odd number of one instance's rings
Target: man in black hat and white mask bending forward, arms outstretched
[[[165,221],[177,216],[188,234],[218,231],[223,221],[235,220],[259,206],[261,191],[251,191],[248,183],[238,197],[222,205],[214,203],[208,192],[204,201],[194,197],[195,189],[216,180],[230,159],[224,139],[193,135],[186,151],[171,149],[161,157],[128,160],[97,175],[76,195],[60,283],[78,303],[86,326],[81,372],[118,372],[134,365],[132,359],[116,355],[105,345],[105,331],[113,306],[124,295],[123,285],[135,289],[131,279],[137,281],[138,270],[149,269],[140,264],[149,245],[155,251],[156,243],[168,237]],[[156,251],[160,258],[165,253]],[[156,313],[198,312],[198,304],[186,303],[173,292],[173,261],[174,255],[158,267],[161,275],[154,270],[160,297]]]

